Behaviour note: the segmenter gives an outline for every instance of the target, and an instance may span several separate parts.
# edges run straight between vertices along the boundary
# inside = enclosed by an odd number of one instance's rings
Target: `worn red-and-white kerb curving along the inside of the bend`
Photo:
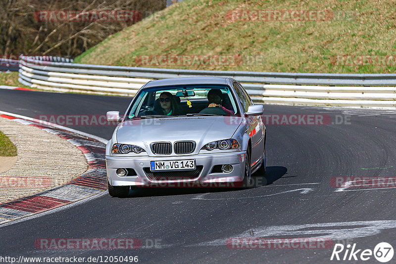
[[[101,193],[107,189],[103,142],[78,134],[76,131],[67,131],[67,128],[54,128],[17,115],[2,114],[1,117],[43,129],[67,140],[83,152],[89,167],[83,175],[66,184],[0,204],[0,227],[11,224],[15,220],[31,217],[93,196],[101,196]]]

